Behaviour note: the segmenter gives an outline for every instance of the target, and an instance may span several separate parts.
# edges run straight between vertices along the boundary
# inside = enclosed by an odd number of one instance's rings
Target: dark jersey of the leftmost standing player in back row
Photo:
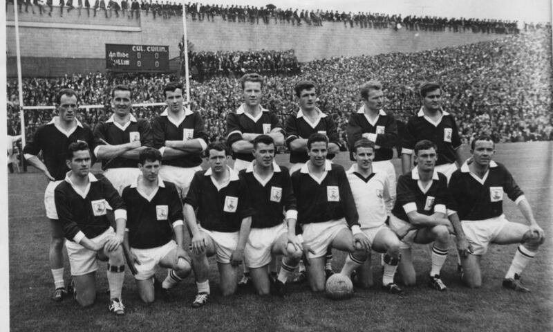
[[[88,125],[77,120],[75,130],[65,133],[55,125],[55,119],[53,119],[35,131],[32,140],[25,145],[23,153],[37,156],[42,151],[44,165],[46,165],[50,175],[56,181],[59,181],[63,180],[66,173],[69,172],[69,168],[65,163],[67,148],[77,140],[84,140],[88,144],[91,149],[91,157],[93,157],[92,151],[94,151],[97,141]]]

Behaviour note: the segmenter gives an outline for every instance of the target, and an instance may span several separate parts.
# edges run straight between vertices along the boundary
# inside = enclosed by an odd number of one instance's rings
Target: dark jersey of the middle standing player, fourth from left
[[[234,142],[242,140],[243,133],[270,133],[275,128],[282,130],[282,124],[276,114],[262,108],[259,118],[253,119],[248,113],[245,113],[244,105],[242,105],[236,110],[236,113],[229,113],[227,116],[227,144],[232,147]],[[251,153],[233,152],[232,157],[245,161],[254,160]]]

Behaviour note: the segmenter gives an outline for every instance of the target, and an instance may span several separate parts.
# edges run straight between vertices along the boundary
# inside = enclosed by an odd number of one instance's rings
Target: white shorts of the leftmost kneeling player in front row
[[[90,240],[98,243],[113,236],[115,236],[115,231],[110,227],[102,234]],[[65,247],[67,248],[69,265],[71,266],[71,275],[86,275],[98,269],[96,251],[88,250],[79,243],[69,240],[65,241]]]

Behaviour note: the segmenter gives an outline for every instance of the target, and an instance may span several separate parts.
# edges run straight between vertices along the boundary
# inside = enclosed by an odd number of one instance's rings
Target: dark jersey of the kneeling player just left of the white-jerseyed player
[[[292,174],[292,187],[297,199],[298,223],[322,223],[346,218],[348,225],[359,225],[359,215],[351,194],[344,167],[326,161],[326,176],[315,180],[309,163]]]

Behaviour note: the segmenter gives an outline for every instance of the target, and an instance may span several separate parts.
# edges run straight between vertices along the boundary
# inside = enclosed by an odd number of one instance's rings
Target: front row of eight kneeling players
[[[450,234],[456,239],[462,280],[471,288],[481,284],[480,259],[489,243],[521,243],[503,286],[528,291],[520,275],[545,237],[511,174],[492,160],[491,138],[481,136],[471,143],[471,158],[453,173],[449,186],[446,176],[434,169],[436,146],[429,140],[418,142],[417,166],[398,178],[393,206],[386,174],[373,171],[375,144],[366,138],[355,142],[355,163],[346,171],[327,160],[328,138],[313,133],[307,142],[308,162],[291,175],[275,163],[273,138],[261,135],[252,143],[254,161],[239,174],[227,166],[227,146],[210,143],[205,151],[209,168],[196,172],[184,205],[176,186],[160,179],[158,149],[140,151],[140,175],[120,195],[107,178],[90,172],[86,142],[71,143],[66,156],[71,171],[55,188],[55,206],[70,240],[66,248],[77,302],[87,306],[95,301],[97,260],[108,261],[115,302],[111,311],[118,315],[124,314],[125,259],[144,302],[153,302],[156,290],[169,297],[169,288],[194,270],[198,295],[192,306],[206,304],[211,256],[216,257],[223,295],[236,291],[242,261],[256,293],[285,295],[302,256],[310,288],[324,291],[328,248],[348,252],[340,273],[355,276],[364,287],[372,285],[366,263],[371,250],[382,252],[382,287],[402,293],[394,276],[398,270],[404,285],[415,284],[413,243],[433,243],[429,284],[445,291],[440,270]],[[529,226],[505,219],[504,192]],[[189,251],[185,225],[191,234]],[[275,255],[283,259],[272,278],[268,265]],[[158,266],[169,268],[163,282],[154,277]]]

